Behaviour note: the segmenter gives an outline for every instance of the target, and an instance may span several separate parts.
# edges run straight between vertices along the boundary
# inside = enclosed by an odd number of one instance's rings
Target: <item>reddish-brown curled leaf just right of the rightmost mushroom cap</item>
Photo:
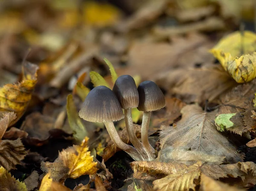
[[[164,109],[158,111],[152,117],[152,125],[155,127],[160,127],[160,125],[170,125],[177,119],[181,113],[180,110],[186,104],[181,100],[173,97],[173,98],[166,98],[166,106]]]

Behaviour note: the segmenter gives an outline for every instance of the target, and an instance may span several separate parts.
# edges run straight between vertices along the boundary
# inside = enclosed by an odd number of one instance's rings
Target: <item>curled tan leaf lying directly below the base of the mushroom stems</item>
[[[133,178],[140,180],[156,180],[187,169],[184,164],[154,161],[134,161],[130,165],[134,171]]]

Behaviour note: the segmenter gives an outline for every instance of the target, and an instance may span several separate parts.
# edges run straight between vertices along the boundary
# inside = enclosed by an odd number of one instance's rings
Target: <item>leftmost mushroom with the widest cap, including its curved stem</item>
[[[86,121],[104,123],[113,143],[134,160],[142,160],[138,151],[120,139],[113,121],[124,118],[122,108],[115,94],[106,86],[93,88],[84,100],[79,117]]]

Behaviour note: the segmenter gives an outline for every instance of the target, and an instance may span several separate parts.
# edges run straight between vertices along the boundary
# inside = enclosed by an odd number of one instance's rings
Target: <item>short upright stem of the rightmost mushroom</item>
[[[148,142],[148,128],[149,128],[149,121],[150,121],[151,111],[144,111],[143,118],[142,118],[142,125],[141,125],[141,140],[142,144],[148,154],[149,160],[155,159],[155,150]]]

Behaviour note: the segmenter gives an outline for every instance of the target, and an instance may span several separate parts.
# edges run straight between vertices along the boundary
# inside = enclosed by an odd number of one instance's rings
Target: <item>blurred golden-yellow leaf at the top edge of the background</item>
[[[110,26],[120,18],[120,11],[107,3],[86,1],[83,6],[84,22],[92,26]]]

